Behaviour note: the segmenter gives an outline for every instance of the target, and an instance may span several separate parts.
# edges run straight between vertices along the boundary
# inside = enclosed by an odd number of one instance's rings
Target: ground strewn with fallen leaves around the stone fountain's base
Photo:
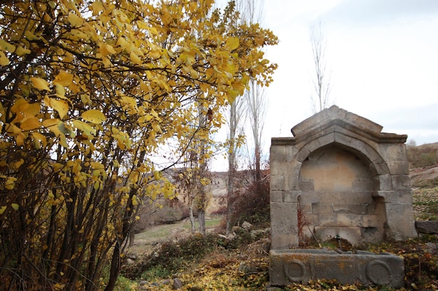
[[[269,284],[269,234],[248,241],[241,237],[226,244],[215,234],[168,242],[155,252],[126,265],[119,290],[266,290]],[[438,290],[438,236],[361,246],[375,253],[389,252],[404,258],[405,288]],[[309,246],[310,248],[313,246]],[[394,290],[387,286],[341,285],[335,281],[292,284],[281,290]]]

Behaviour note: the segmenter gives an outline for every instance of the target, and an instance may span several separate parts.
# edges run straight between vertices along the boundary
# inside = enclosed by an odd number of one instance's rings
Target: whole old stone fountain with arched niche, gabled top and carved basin
[[[407,135],[337,106],[271,140],[272,286],[314,279],[403,285],[402,258],[389,253],[297,249],[338,239],[355,246],[416,237]]]

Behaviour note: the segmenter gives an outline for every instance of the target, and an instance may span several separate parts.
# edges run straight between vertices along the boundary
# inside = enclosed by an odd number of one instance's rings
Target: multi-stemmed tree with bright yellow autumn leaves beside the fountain
[[[206,134],[193,110],[214,130],[248,80],[271,82],[271,31],[212,0],[156,2],[0,3],[6,290],[113,290],[143,197],[174,195],[160,147],[177,138],[185,156]]]

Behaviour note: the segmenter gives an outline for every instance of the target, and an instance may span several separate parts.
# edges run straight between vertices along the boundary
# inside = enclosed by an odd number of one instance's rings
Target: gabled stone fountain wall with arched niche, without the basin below
[[[271,249],[416,237],[407,135],[332,106],[271,141]]]

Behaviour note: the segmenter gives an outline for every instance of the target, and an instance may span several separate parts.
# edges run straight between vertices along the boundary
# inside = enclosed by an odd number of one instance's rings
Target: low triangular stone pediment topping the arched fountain
[[[369,119],[332,105],[300,122],[291,131],[294,138],[298,139],[295,142],[313,139],[334,131],[361,135],[374,142],[406,142],[407,140],[407,135],[382,133],[382,129],[383,126]]]

